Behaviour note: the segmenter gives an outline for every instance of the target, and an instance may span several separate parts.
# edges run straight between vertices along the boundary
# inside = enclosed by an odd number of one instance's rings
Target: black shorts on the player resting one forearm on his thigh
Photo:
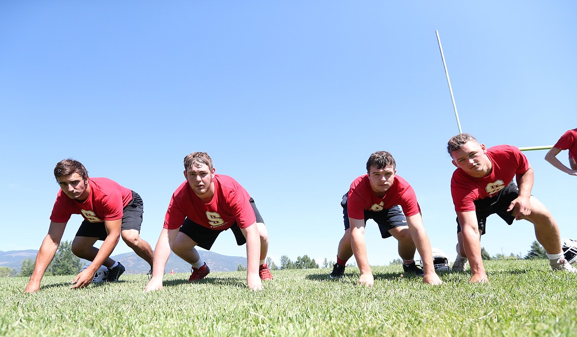
[[[490,198],[475,200],[475,212],[477,213],[477,224],[479,225],[479,233],[481,235],[486,233],[487,217],[491,214],[497,214],[501,219],[505,220],[507,224],[512,225],[515,217],[513,212],[508,212],[507,209],[511,202],[519,196],[519,188],[511,181],[503,190],[499,191],[497,195]],[[459,218],[457,218],[457,233],[461,231]]]

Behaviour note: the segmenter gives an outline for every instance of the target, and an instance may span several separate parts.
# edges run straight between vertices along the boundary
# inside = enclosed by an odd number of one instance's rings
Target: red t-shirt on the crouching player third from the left
[[[353,181],[347,195],[347,213],[352,219],[365,219],[365,210],[381,211],[399,205],[406,217],[421,211],[413,187],[402,177],[395,175],[393,184],[383,198],[377,197],[370,188],[369,175]]]

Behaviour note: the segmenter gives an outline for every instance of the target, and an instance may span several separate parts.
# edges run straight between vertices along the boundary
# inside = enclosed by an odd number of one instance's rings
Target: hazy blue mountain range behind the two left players
[[[239,264],[246,267],[246,258],[241,256],[220,255],[200,249],[198,253],[211,268],[211,271],[234,271],[237,270]],[[38,254],[38,251],[34,249],[8,252],[0,251],[0,267],[16,268],[16,272],[20,272],[23,260],[29,259],[34,261],[36,260],[36,254]],[[113,255],[111,258],[119,261],[126,267],[126,274],[145,274],[150,270],[148,263],[134,252]],[[85,262],[85,260],[83,260],[83,262]],[[164,271],[167,273],[170,271],[187,272],[190,271],[190,264],[171,252]]]

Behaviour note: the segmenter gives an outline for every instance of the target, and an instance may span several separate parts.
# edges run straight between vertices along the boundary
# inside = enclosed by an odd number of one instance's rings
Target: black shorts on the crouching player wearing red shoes
[[[254,215],[256,216],[256,222],[260,222],[264,224],[263,217],[260,216],[256,205],[254,204],[253,198],[249,199],[250,206],[254,210]],[[207,249],[207,251],[211,250],[212,244],[215,243],[216,237],[219,236],[220,233],[224,232],[225,230],[232,230],[234,237],[237,239],[237,245],[242,246],[246,243],[246,238],[244,234],[242,234],[241,229],[238,227],[238,224],[235,222],[230,228],[227,229],[210,229],[205,226],[201,226],[196,222],[192,221],[188,217],[184,219],[182,226],[180,228],[180,232],[183,234],[188,235],[198,247]]]

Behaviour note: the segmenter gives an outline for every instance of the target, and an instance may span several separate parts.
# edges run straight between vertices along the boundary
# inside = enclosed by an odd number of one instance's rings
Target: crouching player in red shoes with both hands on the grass
[[[184,168],[186,181],[170,199],[154,252],[152,279],[144,291],[162,289],[164,266],[171,250],[192,264],[189,282],[203,279],[210,270],[194,247],[210,250],[216,237],[229,228],[238,245],[246,243],[246,285],[262,290],[261,279],[272,279],[272,275],[265,263],[267,228],[254,200],[233,178],[215,175],[208,153],[189,154],[184,158]]]

